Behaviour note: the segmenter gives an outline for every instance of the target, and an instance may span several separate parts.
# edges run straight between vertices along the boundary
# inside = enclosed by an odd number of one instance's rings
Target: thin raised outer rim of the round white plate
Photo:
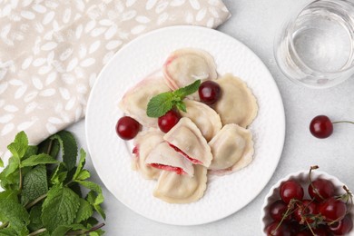
[[[97,171],[97,167],[96,167],[96,164],[95,162],[93,161],[94,158],[92,156],[92,150],[91,150],[91,145],[89,143],[89,133],[88,130],[89,130],[89,127],[88,127],[88,122],[87,122],[87,117],[86,114],[89,113],[90,111],[90,106],[91,106],[91,103],[92,103],[92,92],[93,90],[95,89],[95,87],[97,86],[97,84],[99,83],[100,81],[100,78],[102,77],[102,74],[104,73],[104,71],[109,67],[111,66],[112,62],[115,60],[116,57],[119,56],[119,54],[123,54],[123,51],[126,50],[126,48],[129,48],[131,44],[135,44],[136,41],[140,41],[142,40],[143,37],[147,37],[149,36],[150,34],[160,34],[160,32],[163,32],[163,31],[169,31],[169,30],[190,30],[190,29],[195,29],[195,30],[199,30],[199,31],[205,31],[205,32],[209,32],[211,34],[221,34],[221,36],[223,37],[226,37],[226,38],[229,38],[231,39],[232,41],[236,41],[237,44],[241,44],[242,47],[246,48],[250,54],[253,55],[254,57],[254,60],[257,61],[257,64],[260,64],[261,66],[264,67],[265,69],[265,72],[267,73],[267,76],[269,76],[271,78],[271,84],[272,86],[274,86],[276,88],[276,92],[277,93],[274,93],[273,96],[277,96],[277,103],[279,103],[280,105],[280,112],[281,112],[281,117],[280,117],[280,120],[281,120],[281,123],[280,124],[280,128],[281,128],[281,135],[280,135],[280,139],[279,139],[279,146],[277,147],[276,151],[277,152],[277,163],[273,166],[273,170],[271,170],[271,172],[269,173],[269,176],[266,176],[267,177],[267,180],[264,184],[264,186],[259,189],[258,192],[256,192],[254,194],[254,196],[252,198],[249,199],[249,201],[244,204],[243,206],[241,206],[241,208],[239,208],[237,211],[241,211],[241,209],[243,209],[244,207],[246,207],[247,205],[249,205],[251,202],[253,202],[259,195],[262,191],[265,190],[265,187],[267,186],[267,184],[270,182],[270,179],[271,177],[273,176],[274,172],[276,171],[277,167],[279,166],[279,162],[280,162],[280,158],[281,158],[281,155],[282,155],[282,152],[283,152],[283,148],[284,148],[284,143],[285,143],[285,134],[286,134],[286,116],[285,116],[285,109],[284,109],[284,105],[283,105],[283,101],[282,101],[282,98],[281,98],[281,94],[280,94],[280,90],[279,90],[279,87],[278,87],[278,84],[275,82],[274,80],[274,77],[272,76],[272,74],[270,73],[270,70],[268,69],[268,67],[266,66],[266,64],[264,64],[262,61],[261,61],[261,58],[255,54],[250,47],[248,47],[246,44],[243,44],[241,41],[239,41],[238,39],[232,37],[231,35],[229,34],[225,34],[219,30],[216,30],[216,29],[211,29],[211,28],[207,28],[207,27],[202,27],[202,26],[197,26],[197,25],[172,25],[172,26],[166,26],[166,27],[162,27],[162,28],[159,28],[159,29],[155,29],[155,30],[152,30],[150,32],[147,32],[145,34],[141,34],[139,35],[138,37],[134,38],[132,41],[128,42],[127,44],[124,44],[123,47],[121,49],[119,49],[115,54],[113,54],[112,58],[107,62],[107,64],[105,64],[102,68],[102,70],[100,71],[100,73],[97,75],[94,83],[93,83],[93,86],[91,88],[91,91],[90,91],[90,95],[89,95],[89,98],[87,100],[87,105],[86,105],[86,112],[85,112],[85,123],[84,123],[84,131],[85,131],[85,139],[86,139],[86,143],[87,143],[87,148],[88,148],[88,152],[90,154],[90,159],[93,163],[93,168],[95,170],[95,172],[97,173],[98,177],[100,178],[100,180],[103,182],[103,178],[102,178],[102,173],[98,172]],[[269,82],[270,82],[269,81]],[[220,214],[219,217],[217,217],[217,219],[211,219],[209,221],[202,221],[202,222],[199,222],[199,223],[176,223],[176,222],[171,222],[171,221],[161,221],[161,220],[156,220],[156,219],[153,219],[152,217],[149,217],[149,216],[146,216],[144,215],[142,212],[140,211],[135,211],[133,210],[126,202],[123,202],[122,200],[118,199],[118,197],[113,193],[113,191],[111,190],[110,187],[107,186],[107,184],[105,182],[103,182],[103,185],[104,187],[107,189],[107,191],[111,192],[111,194],[113,195],[113,197],[118,200],[119,202],[123,203],[124,206],[126,206],[128,209],[130,209],[131,211],[143,216],[145,219],[149,219],[151,221],[156,221],[156,222],[161,222],[161,223],[164,223],[164,224],[169,224],[169,225],[180,225],[180,226],[192,226],[192,225],[202,225],[202,224],[207,224],[207,223],[211,223],[213,221],[221,221],[222,219],[228,217],[228,216],[231,216],[233,213],[236,213],[237,211],[231,211],[231,212],[225,212],[224,214]],[[260,209],[260,212],[261,212],[261,209]]]

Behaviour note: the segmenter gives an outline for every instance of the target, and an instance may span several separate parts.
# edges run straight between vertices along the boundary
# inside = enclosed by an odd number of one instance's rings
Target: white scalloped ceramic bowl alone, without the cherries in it
[[[339,179],[337,179],[336,177],[328,174],[327,172],[320,172],[319,170],[313,170],[311,172],[311,180],[314,181],[318,178],[321,179],[326,179],[329,180],[330,182],[332,182],[334,184],[334,186],[336,186],[336,194],[338,193],[344,193],[345,191],[343,190],[343,185],[346,185],[343,182],[340,182]],[[308,186],[309,186],[309,170],[307,171],[301,171],[301,172],[293,172],[288,174],[287,176],[285,176],[284,178],[280,179],[279,182],[277,182],[276,184],[274,184],[271,188],[270,188],[270,192],[268,192],[268,194],[266,195],[263,205],[262,205],[262,210],[261,210],[261,231],[264,232],[264,234],[266,235],[266,227],[267,225],[270,224],[270,222],[272,222],[272,219],[270,217],[269,211],[270,211],[270,204],[272,202],[275,202],[277,200],[280,199],[280,184],[282,182],[286,182],[289,180],[294,180],[297,181],[301,184],[303,190],[304,190],[304,199],[309,199],[309,193],[308,193]],[[351,215],[351,220],[354,221],[354,207],[351,208],[350,211],[350,215]],[[352,229],[350,231],[350,233],[348,234],[349,236],[354,236],[354,229]]]

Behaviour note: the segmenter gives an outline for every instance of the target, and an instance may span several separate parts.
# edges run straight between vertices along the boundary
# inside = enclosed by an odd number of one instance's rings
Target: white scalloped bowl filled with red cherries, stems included
[[[354,235],[352,193],[318,168],[290,173],[271,187],[261,212],[266,235]]]

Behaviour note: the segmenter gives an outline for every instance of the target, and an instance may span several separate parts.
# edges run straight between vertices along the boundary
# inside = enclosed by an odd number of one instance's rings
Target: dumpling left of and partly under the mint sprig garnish
[[[155,73],[128,90],[123,95],[119,107],[123,113],[132,116],[143,126],[157,127],[157,118],[149,117],[146,114],[147,104],[153,96],[168,91],[171,89],[164,83],[162,74]]]

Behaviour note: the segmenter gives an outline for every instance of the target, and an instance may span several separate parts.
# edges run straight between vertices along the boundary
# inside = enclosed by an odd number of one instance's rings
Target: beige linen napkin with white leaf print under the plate
[[[221,0],[0,0],[0,157],[84,117],[94,80],[124,44],[168,25],[215,28]]]

